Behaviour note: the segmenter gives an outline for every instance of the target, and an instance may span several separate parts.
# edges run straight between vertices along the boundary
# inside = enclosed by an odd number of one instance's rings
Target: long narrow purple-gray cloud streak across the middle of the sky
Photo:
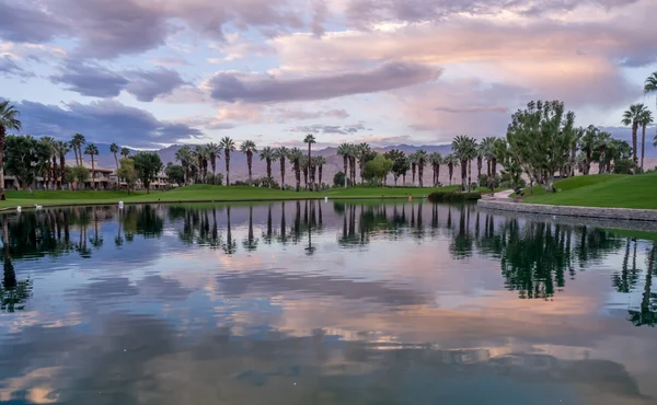
[[[406,62],[389,62],[362,72],[276,79],[247,77],[234,72],[217,73],[210,79],[211,96],[234,103],[275,103],[311,101],[343,95],[374,93],[438,79],[441,70]]]

